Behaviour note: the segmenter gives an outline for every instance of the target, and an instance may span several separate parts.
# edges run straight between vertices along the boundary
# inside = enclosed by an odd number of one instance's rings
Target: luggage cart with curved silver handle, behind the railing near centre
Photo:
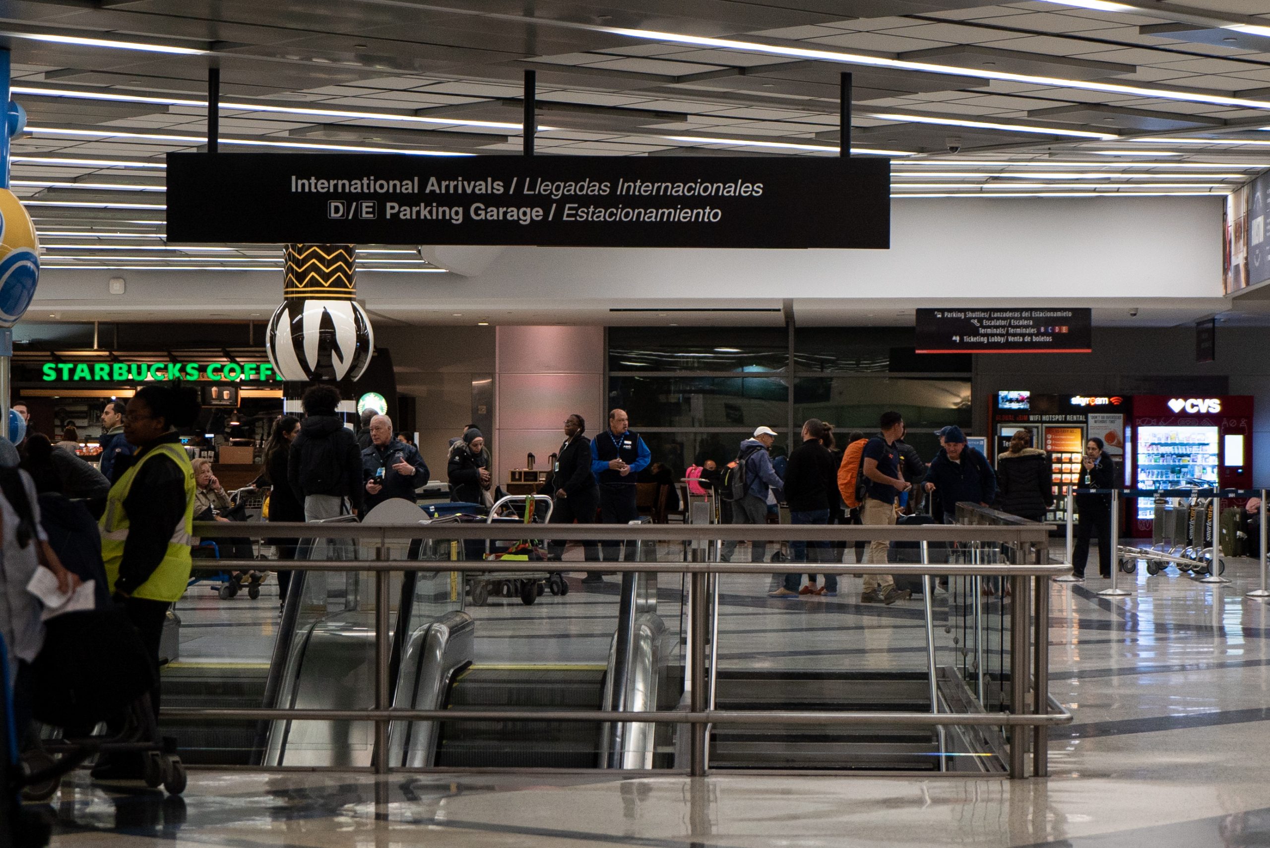
[[[544,504],[546,509],[538,509]],[[521,508],[519,513],[517,505]],[[490,507],[485,523],[546,524],[551,520],[551,498],[547,495],[507,495]],[[511,557],[546,561],[546,552],[540,551],[532,540],[519,540],[498,550],[500,542],[502,540],[485,541],[486,562]],[[467,594],[476,607],[484,607],[491,594],[503,598],[519,597],[521,603],[526,607],[537,600],[545,592],[554,595],[569,594],[569,584],[559,571],[469,571],[465,575],[465,583],[467,584]]]

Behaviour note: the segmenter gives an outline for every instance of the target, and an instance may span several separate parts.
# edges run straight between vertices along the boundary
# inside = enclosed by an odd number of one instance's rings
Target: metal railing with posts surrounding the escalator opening
[[[286,537],[357,540],[361,550],[372,550],[375,559],[356,560],[287,560],[277,561],[276,567],[296,571],[363,571],[375,575],[375,706],[367,710],[326,710],[326,708],[171,708],[164,710],[164,717],[177,720],[326,720],[326,721],[368,721],[375,725],[375,745],[371,768],[376,773],[398,771],[390,765],[389,727],[394,721],[551,721],[551,722],[650,722],[691,726],[691,755],[688,772],[702,776],[707,772],[707,725],[789,725],[789,726],[838,726],[838,725],[903,725],[903,726],[996,726],[1008,727],[1008,771],[1012,778],[1027,777],[1029,740],[1033,748],[1033,774],[1048,774],[1048,727],[1068,724],[1072,715],[1063,710],[1049,696],[1049,589],[1050,580],[1064,574],[1063,564],[1043,561],[1013,565],[983,565],[975,562],[918,564],[836,564],[836,562],[723,562],[709,560],[707,553],[715,546],[710,543],[735,541],[794,542],[794,541],[888,541],[916,543],[925,552],[928,542],[989,543],[1008,545],[1016,550],[1045,550],[1048,545],[1048,524],[1029,526],[940,526],[918,527],[894,526],[749,526],[749,524],[643,524],[643,526],[596,526],[596,524],[552,524],[547,532],[541,526],[535,534],[550,534],[560,541],[610,541],[615,536],[638,542],[676,542],[672,553],[683,550],[683,542],[692,542],[688,556],[682,561],[612,561],[601,564],[561,562],[552,564],[556,569],[583,570],[588,565],[601,565],[608,573],[669,573],[690,576],[690,616],[687,633],[686,689],[690,694],[688,710],[659,711],[617,711],[617,710],[405,710],[391,706],[391,618],[389,580],[394,571],[434,571],[429,565],[446,564],[446,571],[483,570],[488,564],[475,560],[419,561],[387,559],[394,546],[401,542],[423,540],[424,542],[444,541],[451,543],[451,551],[462,550],[466,540],[505,538],[507,527],[486,524],[444,524],[429,527],[370,527],[361,524],[304,524],[304,523],[198,523],[196,534],[201,537]],[[453,545],[457,542],[457,546]],[[702,543],[702,545],[696,545]],[[1041,557],[1038,557],[1041,559]],[[259,560],[220,560],[224,569],[259,569]],[[1010,623],[1010,711],[1008,712],[824,712],[824,711],[726,711],[712,705],[707,686],[707,664],[710,656],[707,644],[718,623],[718,608],[710,603],[707,581],[719,574],[789,574],[805,573],[813,567],[820,574],[833,574],[841,578],[856,574],[865,575],[911,575],[911,576],[978,576],[999,578],[1008,581],[1013,594],[1013,612]],[[542,562],[502,560],[499,571],[528,573],[541,571]],[[1030,603],[1029,603],[1030,600]],[[927,619],[928,621],[928,619]],[[1033,625],[1035,623],[1035,636]],[[1025,729],[1031,727],[1031,732]],[[357,771],[357,769],[349,769]],[[417,769],[415,769],[417,771]]]

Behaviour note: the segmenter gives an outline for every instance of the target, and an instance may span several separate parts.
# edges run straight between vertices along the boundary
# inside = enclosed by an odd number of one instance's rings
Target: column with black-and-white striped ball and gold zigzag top
[[[287,245],[283,301],[264,336],[269,361],[288,382],[358,380],[375,333],[357,297],[354,245]]]

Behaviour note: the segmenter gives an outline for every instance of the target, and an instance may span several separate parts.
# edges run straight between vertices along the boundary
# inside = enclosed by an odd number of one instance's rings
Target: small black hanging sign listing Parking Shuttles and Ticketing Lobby
[[[1090,310],[917,310],[918,353],[1090,353]]]

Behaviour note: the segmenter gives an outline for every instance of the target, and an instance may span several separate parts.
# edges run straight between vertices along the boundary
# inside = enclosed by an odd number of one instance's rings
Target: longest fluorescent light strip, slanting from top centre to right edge
[[[585,27],[585,28],[591,29],[592,32],[607,32],[626,38],[639,38],[643,41],[664,42],[669,44],[693,44],[697,47],[735,50],[748,53],[761,53],[766,56],[790,56],[794,58],[806,58],[813,61],[842,62],[847,65],[866,65],[872,67],[893,67],[902,71],[925,71],[927,74],[972,76],[980,80],[1002,80],[1006,83],[1024,83],[1027,85],[1055,86],[1063,89],[1077,89],[1082,91],[1106,91],[1109,94],[1125,94],[1129,96],[1139,96],[1139,98],[1161,98],[1163,100],[1180,100],[1184,103],[1210,103],[1214,105],[1228,105],[1242,109],[1270,109],[1270,102],[1267,100],[1248,100],[1245,98],[1224,96],[1219,94],[1199,94],[1195,91],[1176,91],[1173,89],[1143,88],[1140,85],[1095,83],[1091,80],[1068,80],[1055,76],[1034,76],[1031,74],[1010,74],[1006,71],[991,71],[982,67],[961,67],[958,65],[913,62],[902,58],[865,56],[862,53],[847,53],[834,50],[810,48],[810,47],[784,47],[776,44],[762,44],[752,41],[740,41],[737,38],[710,38],[705,36],[686,36],[682,33],[668,33],[668,32],[659,32],[655,29],[629,29],[622,27]]]

